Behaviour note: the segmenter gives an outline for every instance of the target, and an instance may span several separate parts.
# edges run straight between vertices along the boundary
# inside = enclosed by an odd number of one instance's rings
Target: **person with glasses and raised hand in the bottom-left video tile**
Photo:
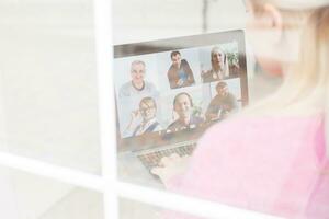
[[[139,136],[145,132],[158,131],[161,129],[159,122],[157,120],[157,103],[150,97],[141,99],[139,103],[139,110],[132,112],[132,119],[126,129],[128,136]],[[141,117],[141,123],[136,125],[138,117]]]

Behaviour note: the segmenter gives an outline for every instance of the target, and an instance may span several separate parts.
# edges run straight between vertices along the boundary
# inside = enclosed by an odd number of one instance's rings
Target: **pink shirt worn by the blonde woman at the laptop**
[[[168,189],[286,218],[328,219],[328,170],[322,115],[239,117],[203,136],[189,170]]]

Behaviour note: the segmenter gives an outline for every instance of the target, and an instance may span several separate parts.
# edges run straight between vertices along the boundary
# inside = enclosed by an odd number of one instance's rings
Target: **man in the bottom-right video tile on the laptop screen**
[[[225,81],[217,83],[216,92],[217,95],[211,101],[206,111],[206,120],[226,118],[230,113],[238,108],[237,99],[229,92]]]

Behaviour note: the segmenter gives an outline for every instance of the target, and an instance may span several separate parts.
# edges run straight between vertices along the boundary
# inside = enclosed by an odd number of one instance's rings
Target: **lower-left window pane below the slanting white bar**
[[[0,168],[0,215],[7,219],[103,219],[102,194]]]

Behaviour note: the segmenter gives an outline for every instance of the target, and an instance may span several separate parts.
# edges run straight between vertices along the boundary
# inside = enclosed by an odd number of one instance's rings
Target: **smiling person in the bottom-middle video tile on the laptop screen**
[[[202,117],[192,114],[193,101],[190,94],[182,92],[175,95],[173,100],[173,111],[178,114],[178,119],[167,128],[169,131],[178,131],[188,128],[194,128],[202,124]]]

